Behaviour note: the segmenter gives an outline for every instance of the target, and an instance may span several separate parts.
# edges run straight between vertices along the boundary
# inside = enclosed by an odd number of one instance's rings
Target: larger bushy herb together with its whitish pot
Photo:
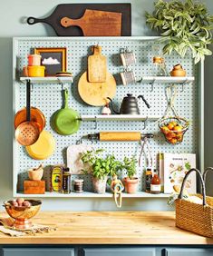
[[[113,176],[121,169],[121,162],[117,161],[114,155],[107,155],[105,158],[99,156],[103,150],[92,150],[82,153],[82,162],[90,165],[90,171],[82,170],[84,173],[92,174],[94,192],[106,192],[106,182],[108,176]]]

